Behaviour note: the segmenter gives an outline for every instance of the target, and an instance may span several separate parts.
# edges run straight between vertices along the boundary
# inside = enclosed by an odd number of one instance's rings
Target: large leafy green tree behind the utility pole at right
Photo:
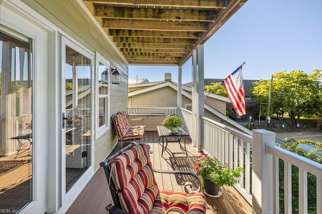
[[[322,70],[311,74],[304,71],[278,72],[273,75],[271,113],[284,116],[288,113],[292,124],[298,123],[301,116],[308,118],[322,117]],[[271,80],[254,82],[251,91],[259,103],[268,103]],[[265,109],[266,108],[266,109]],[[267,114],[267,105],[262,105],[262,115]]]

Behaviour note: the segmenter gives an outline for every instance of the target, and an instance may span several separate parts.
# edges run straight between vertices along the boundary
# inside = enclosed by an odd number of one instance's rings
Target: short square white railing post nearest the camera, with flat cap
[[[273,162],[266,144],[275,144],[275,133],[253,129],[252,205],[253,213],[273,213]]]

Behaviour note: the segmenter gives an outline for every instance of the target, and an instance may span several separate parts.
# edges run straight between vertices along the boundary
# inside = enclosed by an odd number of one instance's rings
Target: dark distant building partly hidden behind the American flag
[[[204,79],[205,85],[211,85],[211,83],[221,83],[223,79]],[[254,82],[258,80],[244,80],[244,89],[245,89],[245,105],[246,105],[246,115],[240,116],[240,119],[249,119],[252,116],[253,119],[259,118],[260,113],[260,103],[256,102],[254,97],[251,94],[251,89],[254,87]],[[185,86],[191,87],[192,83],[185,83]],[[228,108],[232,108],[231,104],[228,105]],[[237,119],[236,114],[232,112],[231,117]]]

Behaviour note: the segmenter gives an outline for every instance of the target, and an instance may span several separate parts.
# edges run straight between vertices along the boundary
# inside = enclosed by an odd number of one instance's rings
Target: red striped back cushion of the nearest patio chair
[[[158,193],[152,164],[144,144],[138,144],[110,163],[111,173],[122,208],[148,214]]]

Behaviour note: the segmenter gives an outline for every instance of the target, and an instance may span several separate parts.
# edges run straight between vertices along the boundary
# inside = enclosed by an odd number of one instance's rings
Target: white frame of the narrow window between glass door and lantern
[[[99,94],[99,64],[102,63],[104,64],[110,72],[110,62],[103,57],[100,53],[96,52],[96,58],[95,58],[95,115],[99,115],[99,98],[107,98],[107,115],[106,115],[106,121],[105,121],[105,126],[99,126],[99,117],[95,116],[95,139],[99,138],[102,136],[105,132],[107,132],[110,129],[110,88],[111,88],[111,83],[110,83],[110,75],[108,75],[108,94],[107,95],[100,95]]]

